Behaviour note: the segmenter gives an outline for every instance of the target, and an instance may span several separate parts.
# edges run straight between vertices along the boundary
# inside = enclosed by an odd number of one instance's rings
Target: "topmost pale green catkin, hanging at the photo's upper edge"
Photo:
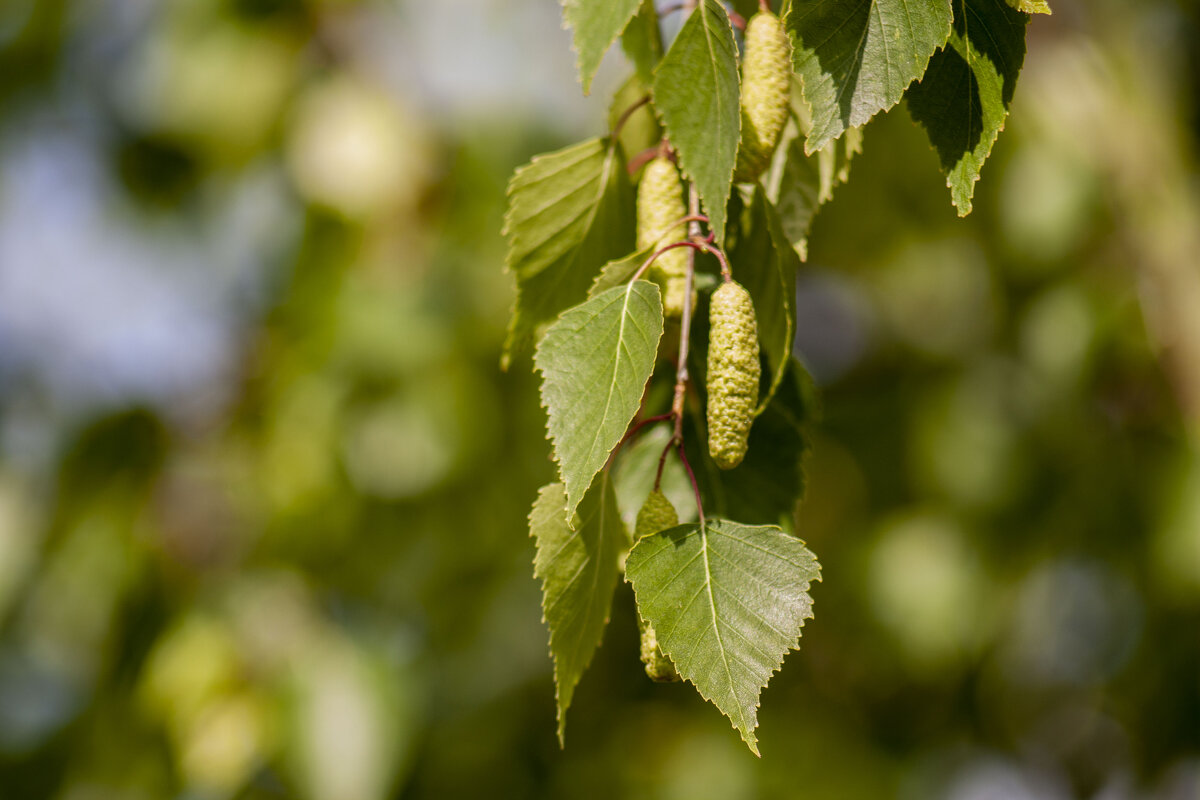
[[[750,18],[742,61],[742,143],[734,180],[757,180],[770,163],[787,121],[792,92],[792,42],[779,17],[762,11]]]

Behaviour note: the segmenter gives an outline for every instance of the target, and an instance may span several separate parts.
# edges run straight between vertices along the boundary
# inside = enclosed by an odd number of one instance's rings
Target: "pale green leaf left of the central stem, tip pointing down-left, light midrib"
[[[634,281],[571,308],[538,344],[568,518],[637,414],[661,336],[659,288]]]

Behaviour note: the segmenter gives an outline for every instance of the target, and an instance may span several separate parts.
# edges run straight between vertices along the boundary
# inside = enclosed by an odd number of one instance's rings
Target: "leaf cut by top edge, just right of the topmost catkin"
[[[806,152],[900,102],[950,34],[950,0],[812,0],[792,5],[792,62],[812,109]]]

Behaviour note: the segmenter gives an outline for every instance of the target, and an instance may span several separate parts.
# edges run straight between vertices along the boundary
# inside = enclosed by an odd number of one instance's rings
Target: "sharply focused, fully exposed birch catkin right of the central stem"
[[[721,469],[742,463],[758,403],[758,325],[740,284],[713,293],[708,332],[708,455]]]

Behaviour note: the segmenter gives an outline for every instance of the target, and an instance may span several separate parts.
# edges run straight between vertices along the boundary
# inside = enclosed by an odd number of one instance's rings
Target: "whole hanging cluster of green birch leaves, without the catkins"
[[[653,0],[564,0],[584,91],[618,40],[632,74],[613,100],[607,136],[538,156],[510,182],[508,266],[518,294],[504,359],[508,365],[536,343],[558,464],[559,480],[534,505],[530,533],[559,738],[624,570],[661,651],[757,753],[758,697],[798,646],[811,616],[808,588],[820,578],[816,559],[790,533],[812,409],[792,354],[796,275],[812,218],[848,179],[862,127],[905,97],[954,205],[970,212],[1012,103],[1030,14],[1050,10],[1042,0],[782,0],[791,64],[775,85],[786,94],[791,83],[787,121],[766,172],[738,184],[738,28],[760,6],[688,5],[666,46]],[[647,157],[664,154],[678,164],[691,187],[691,213],[708,229],[703,237],[692,223],[677,245],[698,251],[689,254],[688,285],[716,282],[707,255],[716,254],[722,278],[732,272],[748,290],[757,319],[756,421],[744,462],[727,471],[704,457],[707,294],[677,324],[665,319],[660,287],[640,279],[655,247],[636,247],[636,179]],[[664,365],[676,360],[670,374]],[[656,387],[672,384],[667,409],[670,392]],[[674,428],[661,455],[622,449],[655,420]],[[658,492],[672,451],[690,476],[697,521],[634,542],[620,498]],[[654,458],[656,469],[626,463]],[[622,474],[655,480],[618,486]]]

